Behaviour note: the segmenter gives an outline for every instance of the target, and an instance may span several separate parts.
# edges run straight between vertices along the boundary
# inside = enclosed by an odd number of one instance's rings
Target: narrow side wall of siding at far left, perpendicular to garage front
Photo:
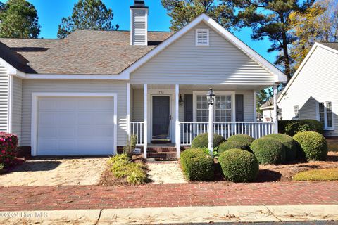
[[[13,108],[12,108],[12,132],[19,137],[21,142],[21,112],[23,108],[23,80],[13,77]]]

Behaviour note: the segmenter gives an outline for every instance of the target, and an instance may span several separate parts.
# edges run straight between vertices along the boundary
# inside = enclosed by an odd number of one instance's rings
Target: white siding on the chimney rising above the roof
[[[132,8],[132,45],[147,45],[147,15],[144,8]]]

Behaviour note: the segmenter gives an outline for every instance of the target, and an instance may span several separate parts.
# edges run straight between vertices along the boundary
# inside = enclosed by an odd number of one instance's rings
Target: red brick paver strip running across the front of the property
[[[0,211],[338,204],[338,181],[0,188]]]

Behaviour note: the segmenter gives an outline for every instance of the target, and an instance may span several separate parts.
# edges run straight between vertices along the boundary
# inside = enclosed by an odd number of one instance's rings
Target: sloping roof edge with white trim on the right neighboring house
[[[277,103],[280,103],[280,101],[282,101],[282,98],[287,94],[289,87],[292,85],[294,80],[298,77],[299,72],[301,72],[301,70],[303,69],[303,66],[306,65],[306,62],[312,56],[315,49],[317,49],[318,47],[321,47],[323,49],[327,49],[328,51],[332,51],[332,52],[336,53],[337,57],[338,57],[338,42],[325,42],[325,43],[315,42],[315,44],[312,46],[311,50],[308,52],[308,54],[304,58],[301,65],[299,65],[299,68],[296,70],[296,72],[294,73],[294,75],[292,76],[290,81],[287,83],[287,86],[285,86],[285,88],[282,91],[282,94],[280,95],[280,97],[277,98]]]

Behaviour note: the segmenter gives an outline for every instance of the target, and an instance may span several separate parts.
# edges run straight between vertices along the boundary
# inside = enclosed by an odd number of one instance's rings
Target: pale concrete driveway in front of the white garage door
[[[0,186],[95,185],[108,158],[27,160],[0,176]]]

